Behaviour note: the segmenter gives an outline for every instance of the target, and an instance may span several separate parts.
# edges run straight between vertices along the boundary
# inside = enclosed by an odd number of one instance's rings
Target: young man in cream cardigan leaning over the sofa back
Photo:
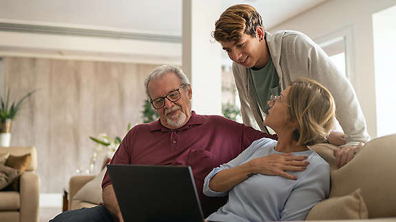
[[[297,78],[311,78],[331,91],[337,120],[346,145],[335,151],[337,166],[349,162],[368,142],[366,122],[351,83],[340,74],[324,51],[308,36],[294,31],[271,35],[264,31],[260,14],[251,5],[233,5],[216,21],[213,37],[233,60],[233,76],[240,96],[242,120],[260,129],[271,95]]]

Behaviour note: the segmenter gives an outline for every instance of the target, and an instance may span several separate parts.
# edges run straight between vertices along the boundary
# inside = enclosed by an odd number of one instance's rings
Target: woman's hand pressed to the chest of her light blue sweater
[[[273,153],[251,161],[257,168],[257,172],[255,173],[270,176],[281,176],[287,179],[297,179],[297,177],[284,171],[305,170],[306,166],[309,165],[309,162],[305,161],[306,158],[306,156],[293,156],[291,153]]]

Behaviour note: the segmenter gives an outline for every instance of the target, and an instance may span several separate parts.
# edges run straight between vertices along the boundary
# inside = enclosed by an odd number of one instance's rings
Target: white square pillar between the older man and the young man
[[[192,109],[221,115],[221,46],[210,33],[220,14],[220,1],[183,1],[183,71],[191,81]],[[202,16],[205,12],[205,16]]]

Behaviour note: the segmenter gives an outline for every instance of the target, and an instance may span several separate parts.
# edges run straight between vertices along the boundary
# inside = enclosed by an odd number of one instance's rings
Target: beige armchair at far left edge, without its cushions
[[[0,153],[21,156],[30,153],[32,161],[21,175],[20,190],[0,191],[0,221],[37,222],[39,221],[40,179],[35,173],[37,151],[33,146],[0,147]]]

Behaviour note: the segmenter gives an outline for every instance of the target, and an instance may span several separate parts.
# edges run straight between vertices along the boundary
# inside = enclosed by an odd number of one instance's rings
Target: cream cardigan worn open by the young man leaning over
[[[265,40],[275,69],[280,89],[285,89],[298,78],[310,78],[329,89],[335,100],[336,118],[346,135],[347,144],[368,142],[366,122],[351,83],[337,71],[329,56],[308,36],[295,31],[280,31],[271,35],[265,32]],[[238,89],[242,120],[248,126],[258,126],[266,131],[264,113],[250,91],[247,68],[233,63],[233,76]]]

